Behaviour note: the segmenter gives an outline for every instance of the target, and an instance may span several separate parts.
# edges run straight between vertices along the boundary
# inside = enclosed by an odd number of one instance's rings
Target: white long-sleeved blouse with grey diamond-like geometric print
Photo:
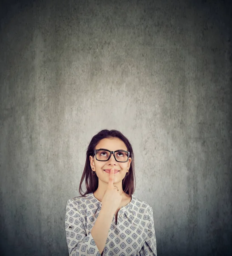
[[[65,231],[70,256],[101,256],[91,235],[102,202],[93,192],[67,201]],[[129,204],[113,215],[103,256],[157,256],[153,209],[132,195]]]

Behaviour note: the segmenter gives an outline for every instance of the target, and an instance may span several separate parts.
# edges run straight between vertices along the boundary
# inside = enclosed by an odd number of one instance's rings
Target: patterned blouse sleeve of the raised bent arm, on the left
[[[101,256],[91,232],[86,234],[81,209],[69,199],[66,206],[65,231],[69,256]]]

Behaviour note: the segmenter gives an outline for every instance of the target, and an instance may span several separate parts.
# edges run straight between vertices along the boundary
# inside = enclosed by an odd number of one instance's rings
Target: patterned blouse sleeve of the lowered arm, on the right
[[[150,209],[150,210],[149,210]],[[147,238],[142,246],[139,255],[140,256],[157,256],[156,251],[156,233],[154,228],[154,218],[152,207],[147,209]],[[145,232],[146,232],[145,230]]]

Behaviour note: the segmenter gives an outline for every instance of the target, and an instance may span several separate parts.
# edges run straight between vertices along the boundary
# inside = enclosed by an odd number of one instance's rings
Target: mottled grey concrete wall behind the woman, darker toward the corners
[[[229,1],[1,5],[1,255],[68,255],[66,202],[104,128],[133,145],[158,256],[232,255]]]

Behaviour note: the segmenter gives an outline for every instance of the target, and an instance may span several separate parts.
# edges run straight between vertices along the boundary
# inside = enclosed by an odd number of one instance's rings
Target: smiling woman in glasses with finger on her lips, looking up
[[[82,195],[84,178],[87,191]],[[96,134],[86,152],[81,196],[67,202],[70,256],[157,256],[153,209],[133,195],[134,180],[134,155],[127,138],[117,130]]]

